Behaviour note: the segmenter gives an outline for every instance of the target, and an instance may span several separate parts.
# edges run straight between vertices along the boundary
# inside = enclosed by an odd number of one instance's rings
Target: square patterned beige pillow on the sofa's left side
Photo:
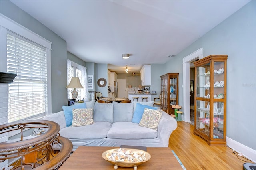
[[[92,119],[92,108],[73,109],[72,127],[80,127],[84,125],[94,124]]]

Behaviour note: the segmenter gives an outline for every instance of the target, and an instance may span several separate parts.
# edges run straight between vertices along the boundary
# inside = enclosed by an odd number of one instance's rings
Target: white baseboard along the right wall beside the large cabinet
[[[256,163],[256,150],[249,148],[235,140],[226,137],[227,145],[238,153],[242,153],[244,157],[248,158],[252,162]]]

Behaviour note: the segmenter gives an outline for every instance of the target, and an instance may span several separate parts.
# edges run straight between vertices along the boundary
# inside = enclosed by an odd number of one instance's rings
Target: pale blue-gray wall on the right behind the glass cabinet
[[[182,58],[203,48],[203,56],[227,54],[226,136],[256,150],[256,1],[251,1],[168,63],[164,73],[180,73],[179,103],[183,103]],[[156,71],[152,69],[152,73]],[[152,81],[154,82],[154,81]]]

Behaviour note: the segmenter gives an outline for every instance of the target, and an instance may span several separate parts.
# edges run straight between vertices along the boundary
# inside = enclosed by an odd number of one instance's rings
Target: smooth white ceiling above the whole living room
[[[117,73],[166,63],[249,1],[11,0],[86,62]],[[122,54],[130,59],[122,59]],[[174,56],[175,57],[175,56]]]

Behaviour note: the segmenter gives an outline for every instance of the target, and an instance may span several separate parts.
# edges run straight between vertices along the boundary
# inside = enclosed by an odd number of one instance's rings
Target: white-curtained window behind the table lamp
[[[67,69],[68,69],[68,82],[70,83],[72,77],[79,77],[81,85],[84,87],[83,89],[78,90],[77,99],[84,101],[88,100],[88,92],[87,92],[87,73],[86,68],[82,65],[76,64],[69,59],[67,59]],[[68,99],[72,99],[70,91],[73,89],[68,88]]]

